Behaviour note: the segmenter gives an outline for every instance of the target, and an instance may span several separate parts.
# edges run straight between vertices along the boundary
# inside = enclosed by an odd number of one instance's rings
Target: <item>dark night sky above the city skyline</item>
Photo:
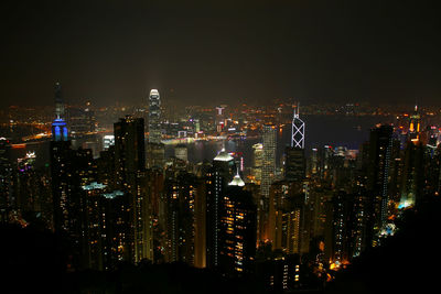
[[[434,3],[2,0],[0,105],[51,105],[56,80],[97,105],[152,87],[189,104],[440,105]]]

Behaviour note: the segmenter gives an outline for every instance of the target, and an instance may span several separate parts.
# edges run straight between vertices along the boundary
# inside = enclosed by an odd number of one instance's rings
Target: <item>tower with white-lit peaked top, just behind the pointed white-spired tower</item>
[[[206,175],[206,265],[219,265],[220,213],[222,199],[234,171],[234,157],[225,150],[213,160],[213,166]]]

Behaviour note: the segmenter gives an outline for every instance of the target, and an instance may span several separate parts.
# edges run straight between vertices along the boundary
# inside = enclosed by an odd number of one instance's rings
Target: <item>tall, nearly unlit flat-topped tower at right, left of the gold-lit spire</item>
[[[380,126],[370,130],[369,156],[368,156],[368,184],[372,193],[373,244],[377,244],[377,238],[381,228],[387,225],[389,203],[389,167],[392,151],[391,126]]]

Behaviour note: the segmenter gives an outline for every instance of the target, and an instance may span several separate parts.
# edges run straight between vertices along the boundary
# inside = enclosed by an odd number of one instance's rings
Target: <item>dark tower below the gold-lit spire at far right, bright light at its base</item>
[[[402,167],[401,197],[398,208],[411,207],[421,200],[424,189],[424,146],[421,142],[408,142]]]

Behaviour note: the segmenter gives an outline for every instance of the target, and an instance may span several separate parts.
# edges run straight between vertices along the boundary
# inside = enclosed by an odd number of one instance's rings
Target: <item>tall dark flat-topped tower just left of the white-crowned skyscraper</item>
[[[127,193],[132,240],[126,260],[152,260],[151,206],[147,195],[144,121],[127,116],[114,124],[116,188]]]

